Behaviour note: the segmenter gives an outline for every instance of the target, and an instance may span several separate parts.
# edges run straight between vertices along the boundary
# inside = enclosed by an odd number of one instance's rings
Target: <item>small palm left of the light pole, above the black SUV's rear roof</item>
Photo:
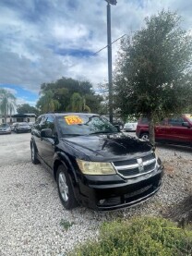
[[[37,107],[41,113],[54,112],[60,107],[57,100],[54,100],[54,93],[52,91],[45,91],[42,97],[37,102]]]

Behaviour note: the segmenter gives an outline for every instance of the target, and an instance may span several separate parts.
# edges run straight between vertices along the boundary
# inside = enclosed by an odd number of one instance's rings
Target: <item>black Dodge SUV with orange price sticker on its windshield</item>
[[[124,208],[161,186],[162,162],[150,142],[126,137],[102,116],[42,115],[31,130],[30,149],[32,163],[52,171],[66,209]]]

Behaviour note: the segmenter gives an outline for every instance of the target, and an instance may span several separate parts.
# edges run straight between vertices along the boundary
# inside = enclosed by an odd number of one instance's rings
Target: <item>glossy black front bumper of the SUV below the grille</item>
[[[100,181],[86,176],[79,182],[80,202],[99,211],[136,205],[150,199],[160,189],[162,174],[160,168],[151,174],[126,180],[118,175],[102,177]]]

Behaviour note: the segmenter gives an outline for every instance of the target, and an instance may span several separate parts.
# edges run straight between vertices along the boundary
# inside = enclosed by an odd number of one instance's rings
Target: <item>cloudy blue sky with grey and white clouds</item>
[[[34,105],[42,82],[61,77],[107,81],[104,0],[0,0],[0,87],[18,104]],[[111,6],[112,41],[143,26],[162,8],[192,27],[191,0],[117,0]],[[119,41],[113,44],[113,64]]]

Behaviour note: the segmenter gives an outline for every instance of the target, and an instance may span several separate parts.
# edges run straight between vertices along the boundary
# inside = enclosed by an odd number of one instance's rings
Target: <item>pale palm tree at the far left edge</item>
[[[5,123],[6,117],[8,114],[11,116],[16,108],[16,97],[6,89],[0,89],[0,111],[2,116],[5,116]]]

